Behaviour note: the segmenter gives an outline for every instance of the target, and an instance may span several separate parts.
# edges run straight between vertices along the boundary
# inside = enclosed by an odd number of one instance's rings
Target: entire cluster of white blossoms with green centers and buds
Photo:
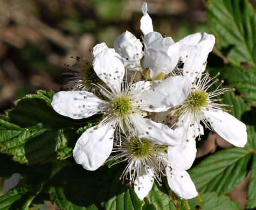
[[[247,142],[246,127],[215,99],[231,89],[222,88],[223,81],[216,86],[218,79],[205,71],[215,37],[196,33],[175,43],[153,30],[147,3],[141,9],[143,41],[126,31],[114,48],[96,45],[92,64],[77,58],[81,67],[71,67],[73,81],[66,86],[72,90],[56,93],[52,107],[73,119],[102,117],[73,151],[86,170],[109,160],[124,162],[120,179],[128,179],[141,200],[154,180],[161,185],[162,177],[179,197],[191,199],[197,190],[186,170],[195,160],[203,125],[241,147]],[[211,86],[216,90],[207,92]]]

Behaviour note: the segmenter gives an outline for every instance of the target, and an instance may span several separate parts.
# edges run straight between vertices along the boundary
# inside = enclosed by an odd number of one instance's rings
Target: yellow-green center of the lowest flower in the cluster
[[[130,150],[133,155],[137,158],[147,158],[150,156],[151,150],[153,149],[153,143],[148,141],[146,138],[132,137],[130,139]]]

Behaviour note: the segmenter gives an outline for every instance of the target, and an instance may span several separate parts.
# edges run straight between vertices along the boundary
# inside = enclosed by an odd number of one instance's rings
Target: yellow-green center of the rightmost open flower
[[[196,90],[189,94],[188,103],[196,109],[206,107],[208,104],[208,94],[203,90]]]

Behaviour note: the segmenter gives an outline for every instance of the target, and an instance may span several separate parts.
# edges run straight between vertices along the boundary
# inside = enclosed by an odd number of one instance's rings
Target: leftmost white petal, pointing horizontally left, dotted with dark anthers
[[[52,108],[60,115],[73,119],[87,118],[106,106],[104,101],[87,91],[61,91],[53,95]]]

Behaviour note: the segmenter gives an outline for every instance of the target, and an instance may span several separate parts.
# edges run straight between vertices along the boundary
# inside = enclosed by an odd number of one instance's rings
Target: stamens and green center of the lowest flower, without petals
[[[134,184],[135,178],[141,173],[144,168],[148,173],[150,169],[154,176],[152,177],[161,183],[161,177],[164,175],[165,162],[168,159],[168,146],[155,144],[147,138],[139,138],[137,136],[121,135],[122,144],[114,144],[113,152],[117,152],[115,156],[109,157],[109,160],[115,160],[112,165],[120,162],[127,162],[126,169],[124,169],[120,179],[130,180],[128,186]],[[112,166],[111,165],[111,166]],[[152,174],[151,174],[152,176]],[[160,184],[161,186],[161,184]]]

